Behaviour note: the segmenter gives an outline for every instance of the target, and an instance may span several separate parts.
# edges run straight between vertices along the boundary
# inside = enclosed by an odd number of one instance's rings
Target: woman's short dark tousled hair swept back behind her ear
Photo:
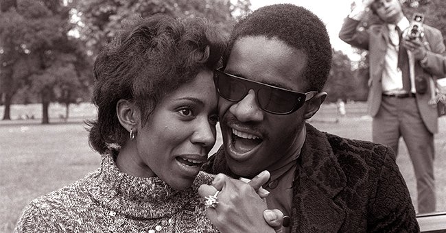
[[[144,125],[165,95],[203,69],[217,68],[225,48],[220,30],[200,18],[156,14],[126,25],[95,60],[97,119],[87,122],[91,147],[104,154],[128,140],[117,118],[119,99],[134,102]]]

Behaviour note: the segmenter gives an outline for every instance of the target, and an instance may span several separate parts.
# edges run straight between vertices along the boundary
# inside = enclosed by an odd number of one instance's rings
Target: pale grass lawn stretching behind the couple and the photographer
[[[319,130],[347,138],[371,140],[371,119],[365,104],[347,104],[347,116],[339,117],[336,107],[324,105],[310,123]],[[13,106],[12,121],[0,121],[0,232],[12,232],[23,207],[32,199],[61,188],[99,167],[100,158],[90,149],[84,119],[93,119],[95,109],[88,104],[71,106],[70,119],[60,119],[62,106],[50,106],[50,125],[40,125],[40,106]],[[34,114],[34,120],[18,120]],[[3,106],[0,107],[3,116]],[[22,117],[23,118],[23,117]],[[446,117],[436,135],[436,185],[438,210],[446,211]],[[215,147],[222,143],[218,135]],[[215,149],[214,147],[214,149]],[[397,163],[406,178],[412,197],[416,187],[406,145],[401,141]],[[416,206],[416,203],[414,203]]]

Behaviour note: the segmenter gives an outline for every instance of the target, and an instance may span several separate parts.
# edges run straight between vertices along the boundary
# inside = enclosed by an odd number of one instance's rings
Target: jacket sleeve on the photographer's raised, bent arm
[[[353,47],[368,50],[368,32],[363,27],[357,28],[359,24],[360,21],[347,17],[340,29],[339,38]]]

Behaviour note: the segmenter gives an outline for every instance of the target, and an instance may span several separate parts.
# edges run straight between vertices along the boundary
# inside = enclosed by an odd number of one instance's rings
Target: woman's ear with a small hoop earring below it
[[[126,128],[128,132],[137,130],[138,112],[134,103],[126,99],[119,99],[116,104],[116,113],[122,127]]]

